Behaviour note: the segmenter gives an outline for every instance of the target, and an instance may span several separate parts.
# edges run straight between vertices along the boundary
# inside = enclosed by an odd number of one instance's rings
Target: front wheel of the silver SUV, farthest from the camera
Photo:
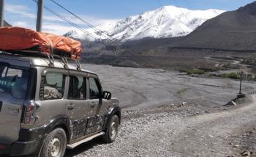
[[[119,117],[114,115],[109,124],[107,124],[107,131],[105,135],[102,136],[102,140],[107,143],[112,143],[116,140],[117,133],[119,131]]]

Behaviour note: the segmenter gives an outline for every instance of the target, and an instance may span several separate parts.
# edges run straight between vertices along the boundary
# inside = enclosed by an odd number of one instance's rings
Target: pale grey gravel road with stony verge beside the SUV
[[[65,157],[241,156],[242,147],[231,142],[234,136],[240,137],[235,130],[256,121],[256,96],[252,101],[211,113],[189,106],[159,113],[140,112],[143,114],[137,117],[129,116],[137,112],[125,112],[116,142],[93,140],[68,150]]]

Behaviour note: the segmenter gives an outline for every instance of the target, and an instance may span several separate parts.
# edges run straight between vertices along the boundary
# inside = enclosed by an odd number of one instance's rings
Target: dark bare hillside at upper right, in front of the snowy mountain
[[[256,50],[256,1],[204,22],[177,44],[220,50]]]

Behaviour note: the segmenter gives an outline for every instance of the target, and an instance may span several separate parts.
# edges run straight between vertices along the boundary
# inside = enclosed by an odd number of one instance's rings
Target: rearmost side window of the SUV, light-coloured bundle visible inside
[[[48,73],[44,80],[43,98],[48,99],[61,99],[63,98],[65,89],[65,75],[60,73]]]

